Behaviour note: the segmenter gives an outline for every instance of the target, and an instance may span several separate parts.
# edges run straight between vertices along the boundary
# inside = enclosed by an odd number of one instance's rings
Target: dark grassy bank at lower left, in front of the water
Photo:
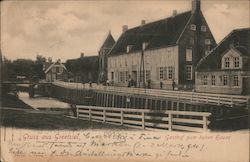
[[[1,98],[1,103],[0,125],[5,127],[36,130],[128,129],[122,126],[68,118],[63,112],[36,111],[13,95],[5,95]]]

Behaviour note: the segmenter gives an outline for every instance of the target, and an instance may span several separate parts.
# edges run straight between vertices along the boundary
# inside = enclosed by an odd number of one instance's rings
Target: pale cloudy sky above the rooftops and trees
[[[201,0],[201,10],[219,43],[233,29],[249,27],[248,0]],[[111,31],[140,25],[191,10],[191,0],[99,0],[1,2],[1,50],[8,59],[53,61],[98,55]]]

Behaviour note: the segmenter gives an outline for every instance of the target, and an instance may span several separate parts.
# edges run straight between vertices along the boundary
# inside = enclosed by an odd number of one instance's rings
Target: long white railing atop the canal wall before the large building
[[[191,103],[206,103],[216,105],[227,105],[233,107],[234,105],[247,104],[250,100],[249,96],[240,95],[223,95],[213,93],[198,93],[198,92],[185,92],[185,91],[171,91],[159,89],[143,89],[143,88],[128,88],[128,87],[115,87],[115,86],[102,86],[93,84],[69,83],[69,82],[55,82],[57,86],[70,88],[70,89],[94,89],[100,91],[131,93],[140,95],[151,95],[157,97],[173,98],[177,100],[190,101]]]

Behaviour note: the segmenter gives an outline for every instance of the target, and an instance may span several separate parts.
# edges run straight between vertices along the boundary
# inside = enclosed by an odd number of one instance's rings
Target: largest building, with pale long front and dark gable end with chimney
[[[151,23],[143,20],[123,33],[108,55],[108,79],[118,86],[192,89],[195,67],[216,46],[200,10],[192,10]],[[142,86],[143,85],[143,86]]]

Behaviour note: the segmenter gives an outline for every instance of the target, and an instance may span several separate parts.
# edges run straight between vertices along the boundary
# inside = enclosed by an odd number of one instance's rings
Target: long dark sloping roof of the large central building
[[[129,29],[120,36],[109,55],[126,53],[128,45],[132,45],[131,52],[139,51],[143,42],[148,43],[147,49],[175,45],[191,16],[191,11],[187,11]]]

